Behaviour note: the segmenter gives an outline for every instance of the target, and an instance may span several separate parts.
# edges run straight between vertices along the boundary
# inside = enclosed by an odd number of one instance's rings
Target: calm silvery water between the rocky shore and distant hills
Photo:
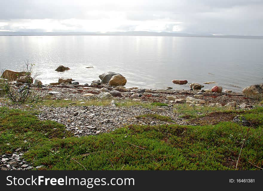
[[[263,82],[262,52],[263,40],[258,39],[0,36],[1,68],[19,70],[29,59],[44,84],[61,76],[90,84],[112,71],[126,77],[126,87],[188,90],[192,82],[215,81],[223,89],[241,92]],[[59,65],[71,69],[56,72]],[[173,79],[186,79],[189,84],[176,85]],[[214,86],[204,85],[205,89]]]

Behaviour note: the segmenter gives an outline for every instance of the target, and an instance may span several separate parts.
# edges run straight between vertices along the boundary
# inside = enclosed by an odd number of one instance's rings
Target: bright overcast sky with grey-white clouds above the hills
[[[0,31],[263,36],[263,0],[0,0]]]

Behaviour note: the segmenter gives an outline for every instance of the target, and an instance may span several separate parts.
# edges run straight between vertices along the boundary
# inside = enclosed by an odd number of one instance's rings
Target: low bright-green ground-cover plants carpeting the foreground
[[[134,125],[77,138],[61,124],[0,108],[0,154],[21,147],[27,151],[26,160],[34,166],[44,164],[46,170],[235,170],[236,165],[238,170],[260,170],[263,108],[242,115],[254,126]]]

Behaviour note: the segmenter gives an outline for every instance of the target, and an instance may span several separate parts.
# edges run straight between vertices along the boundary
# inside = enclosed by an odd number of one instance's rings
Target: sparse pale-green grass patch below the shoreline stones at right
[[[181,118],[195,119],[204,117],[211,112],[229,112],[233,111],[230,107],[202,107],[202,106],[189,106],[189,104],[179,104],[175,107],[174,112],[182,114]]]

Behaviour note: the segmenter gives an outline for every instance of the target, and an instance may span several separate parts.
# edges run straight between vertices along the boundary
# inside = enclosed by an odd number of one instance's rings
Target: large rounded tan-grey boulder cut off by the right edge
[[[263,84],[255,84],[245,87],[242,92],[250,99],[262,100],[263,99]]]

